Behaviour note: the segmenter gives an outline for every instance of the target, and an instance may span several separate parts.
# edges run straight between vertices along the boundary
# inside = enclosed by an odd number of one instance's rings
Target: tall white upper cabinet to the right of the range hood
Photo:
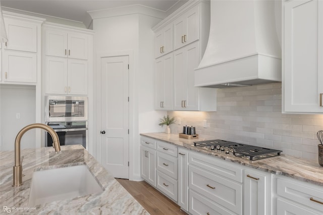
[[[323,112],[323,2],[283,7],[283,111]]]

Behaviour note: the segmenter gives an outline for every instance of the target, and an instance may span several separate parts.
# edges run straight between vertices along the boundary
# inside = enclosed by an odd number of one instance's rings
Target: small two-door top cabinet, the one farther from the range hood
[[[155,33],[155,58],[173,51],[173,23]]]

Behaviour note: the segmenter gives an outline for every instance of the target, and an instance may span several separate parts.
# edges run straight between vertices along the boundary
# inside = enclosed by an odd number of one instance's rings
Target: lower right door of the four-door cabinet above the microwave
[[[79,59],[68,59],[67,86],[68,94],[87,94],[87,61]]]

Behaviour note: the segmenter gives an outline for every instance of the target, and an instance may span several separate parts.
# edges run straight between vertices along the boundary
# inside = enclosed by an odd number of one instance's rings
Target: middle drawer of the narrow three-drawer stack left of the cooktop
[[[177,158],[157,152],[157,170],[177,180]]]

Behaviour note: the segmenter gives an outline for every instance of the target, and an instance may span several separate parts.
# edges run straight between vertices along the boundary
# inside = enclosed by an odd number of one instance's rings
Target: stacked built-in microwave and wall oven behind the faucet
[[[81,144],[87,149],[87,97],[46,96],[45,123],[54,129],[61,146]],[[46,133],[45,146],[52,146]]]

